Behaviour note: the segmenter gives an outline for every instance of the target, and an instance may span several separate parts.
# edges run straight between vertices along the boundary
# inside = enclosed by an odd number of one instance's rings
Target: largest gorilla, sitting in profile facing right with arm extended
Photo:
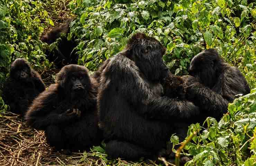
[[[188,119],[199,111],[189,102],[159,95],[158,85],[169,72],[164,54],[155,38],[138,33],[102,65],[97,100],[109,157],[156,157],[166,148],[173,119]]]

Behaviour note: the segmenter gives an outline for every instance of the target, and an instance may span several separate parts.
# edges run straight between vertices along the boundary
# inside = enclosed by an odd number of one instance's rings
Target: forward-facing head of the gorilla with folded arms
[[[91,88],[88,69],[79,65],[67,65],[62,67],[57,74],[56,83],[61,85],[66,95],[79,98],[86,95]]]

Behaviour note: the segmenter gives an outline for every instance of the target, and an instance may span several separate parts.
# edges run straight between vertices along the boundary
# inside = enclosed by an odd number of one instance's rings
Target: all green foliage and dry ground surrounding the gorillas
[[[54,81],[57,70],[45,50],[55,49],[59,41],[47,45],[39,37],[69,17],[75,19],[68,39],[77,41],[78,64],[90,71],[122,50],[129,36],[138,31],[161,41],[166,47],[164,60],[177,75],[188,74],[192,57],[201,50],[217,49],[245,75],[252,92],[230,104],[220,122],[208,118],[207,128],[190,126],[188,135],[191,131],[197,135],[185,147],[185,154],[193,157],[186,165],[256,165],[254,0],[0,0],[0,89],[17,57],[28,59],[47,84]],[[9,114],[1,97],[0,118],[0,165],[158,165],[143,159],[137,163],[108,160],[101,147],[75,157],[52,155],[51,148],[38,148],[44,141],[28,141],[44,135]],[[170,141],[179,144],[175,135]],[[29,146],[24,142],[30,142]],[[52,156],[47,156],[47,150]]]

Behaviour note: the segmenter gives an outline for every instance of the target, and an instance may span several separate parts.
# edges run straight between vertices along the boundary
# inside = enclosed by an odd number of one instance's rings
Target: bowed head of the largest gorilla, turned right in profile
[[[165,48],[155,38],[137,33],[128,40],[126,49],[127,57],[136,63],[147,79],[155,81],[167,76],[168,68],[162,58]]]

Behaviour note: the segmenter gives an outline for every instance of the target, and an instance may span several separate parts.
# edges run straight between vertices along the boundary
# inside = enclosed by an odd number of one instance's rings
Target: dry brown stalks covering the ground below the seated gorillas
[[[58,153],[45,139],[44,131],[27,126],[17,114],[0,114],[0,166],[156,166],[148,160],[137,163],[125,160],[108,160],[106,154],[97,150],[73,153],[70,156]]]

